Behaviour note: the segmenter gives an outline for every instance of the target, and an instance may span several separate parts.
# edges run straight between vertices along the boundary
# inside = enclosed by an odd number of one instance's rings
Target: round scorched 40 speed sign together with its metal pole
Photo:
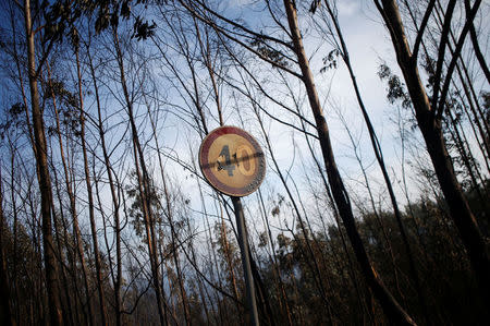
[[[199,149],[199,166],[216,190],[230,195],[235,210],[238,244],[252,325],[259,325],[247,232],[240,197],[256,191],[266,176],[266,158],[257,141],[236,126],[210,132]]]

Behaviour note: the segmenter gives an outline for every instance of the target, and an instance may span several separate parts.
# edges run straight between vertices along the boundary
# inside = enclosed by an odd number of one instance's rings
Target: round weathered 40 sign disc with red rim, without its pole
[[[230,196],[246,196],[266,176],[266,159],[257,141],[236,126],[211,131],[199,148],[199,166],[206,180]]]

